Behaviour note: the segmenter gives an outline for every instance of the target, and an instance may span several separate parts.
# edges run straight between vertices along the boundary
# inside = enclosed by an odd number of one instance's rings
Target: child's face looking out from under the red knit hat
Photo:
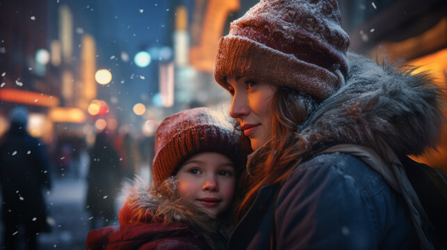
[[[234,165],[222,153],[197,153],[177,172],[177,194],[200,210],[217,216],[225,211],[234,197]]]

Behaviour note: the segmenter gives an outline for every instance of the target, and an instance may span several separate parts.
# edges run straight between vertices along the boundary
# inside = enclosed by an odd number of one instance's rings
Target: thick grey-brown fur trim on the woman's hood
[[[414,67],[377,65],[356,53],[348,56],[346,85],[298,128],[311,151],[348,143],[371,147],[383,157],[386,144],[397,156],[434,147],[444,117],[442,90],[430,75],[412,74]]]

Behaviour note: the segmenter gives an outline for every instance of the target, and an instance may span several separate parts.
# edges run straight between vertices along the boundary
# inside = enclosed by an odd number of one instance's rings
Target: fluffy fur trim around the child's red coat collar
[[[216,217],[208,215],[177,196],[174,177],[154,187],[136,178],[122,190],[124,204],[118,212],[120,225],[126,224],[186,224],[204,232],[215,232]]]

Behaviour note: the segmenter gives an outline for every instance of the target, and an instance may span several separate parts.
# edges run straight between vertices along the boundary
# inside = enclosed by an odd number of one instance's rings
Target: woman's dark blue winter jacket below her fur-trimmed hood
[[[400,194],[338,152],[300,164],[280,186],[263,186],[229,241],[229,249],[257,250],[418,247]]]

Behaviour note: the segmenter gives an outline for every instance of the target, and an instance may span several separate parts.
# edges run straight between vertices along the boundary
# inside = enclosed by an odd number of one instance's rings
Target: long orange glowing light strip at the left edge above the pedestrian
[[[0,100],[47,107],[59,105],[59,99],[57,97],[11,88],[0,90]]]

